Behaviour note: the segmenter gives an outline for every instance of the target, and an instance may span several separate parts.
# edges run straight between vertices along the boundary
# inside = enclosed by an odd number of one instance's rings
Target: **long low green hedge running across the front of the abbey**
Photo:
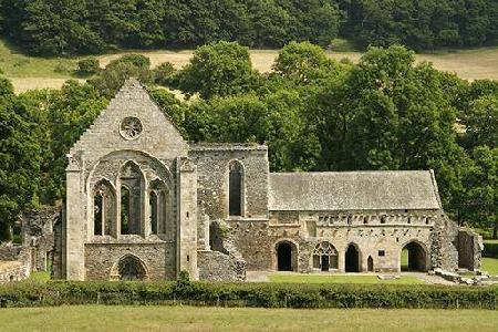
[[[497,287],[189,282],[19,282],[2,307],[193,304],[262,308],[496,309]]]

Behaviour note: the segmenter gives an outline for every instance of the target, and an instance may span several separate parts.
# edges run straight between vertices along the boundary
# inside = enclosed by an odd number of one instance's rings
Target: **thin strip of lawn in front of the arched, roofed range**
[[[268,276],[270,282],[283,283],[378,283],[378,284],[423,284],[423,280],[413,276],[402,276],[396,280],[381,280],[376,276],[351,274],[283,274]]]

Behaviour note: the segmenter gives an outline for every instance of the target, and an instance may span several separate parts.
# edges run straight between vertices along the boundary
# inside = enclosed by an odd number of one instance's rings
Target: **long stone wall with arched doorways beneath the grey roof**
[[[367,258],[372,257],[374,271],[397,272],[401,251],[409,242],[416,242],[426,252],[427,269],[455,269],[455,225],[445,218],[433,210],[272,211],[270,222],[230,220],[229,237],[247,261],[248,270],[276,270],[278,245],[291,242],[298,251],[295,270],[311,272],[313,249],[321,241],[336,249],[339,271],[344,271],[345,251],[351,243],[360,251],[362,271],[367,270]]]

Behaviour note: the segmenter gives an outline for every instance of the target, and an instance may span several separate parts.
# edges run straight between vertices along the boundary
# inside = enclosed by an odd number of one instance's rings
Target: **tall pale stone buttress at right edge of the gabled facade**
[[[197,167],[188,158],[178,158],[177,273],[187,271],[199,279],[197,269]]]

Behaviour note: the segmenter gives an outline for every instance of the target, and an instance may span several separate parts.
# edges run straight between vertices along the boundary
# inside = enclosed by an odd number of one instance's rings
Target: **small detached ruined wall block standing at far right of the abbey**
[[[458,267],[470,271],[480,270],[483,238],[469,230],[458,231]]]

